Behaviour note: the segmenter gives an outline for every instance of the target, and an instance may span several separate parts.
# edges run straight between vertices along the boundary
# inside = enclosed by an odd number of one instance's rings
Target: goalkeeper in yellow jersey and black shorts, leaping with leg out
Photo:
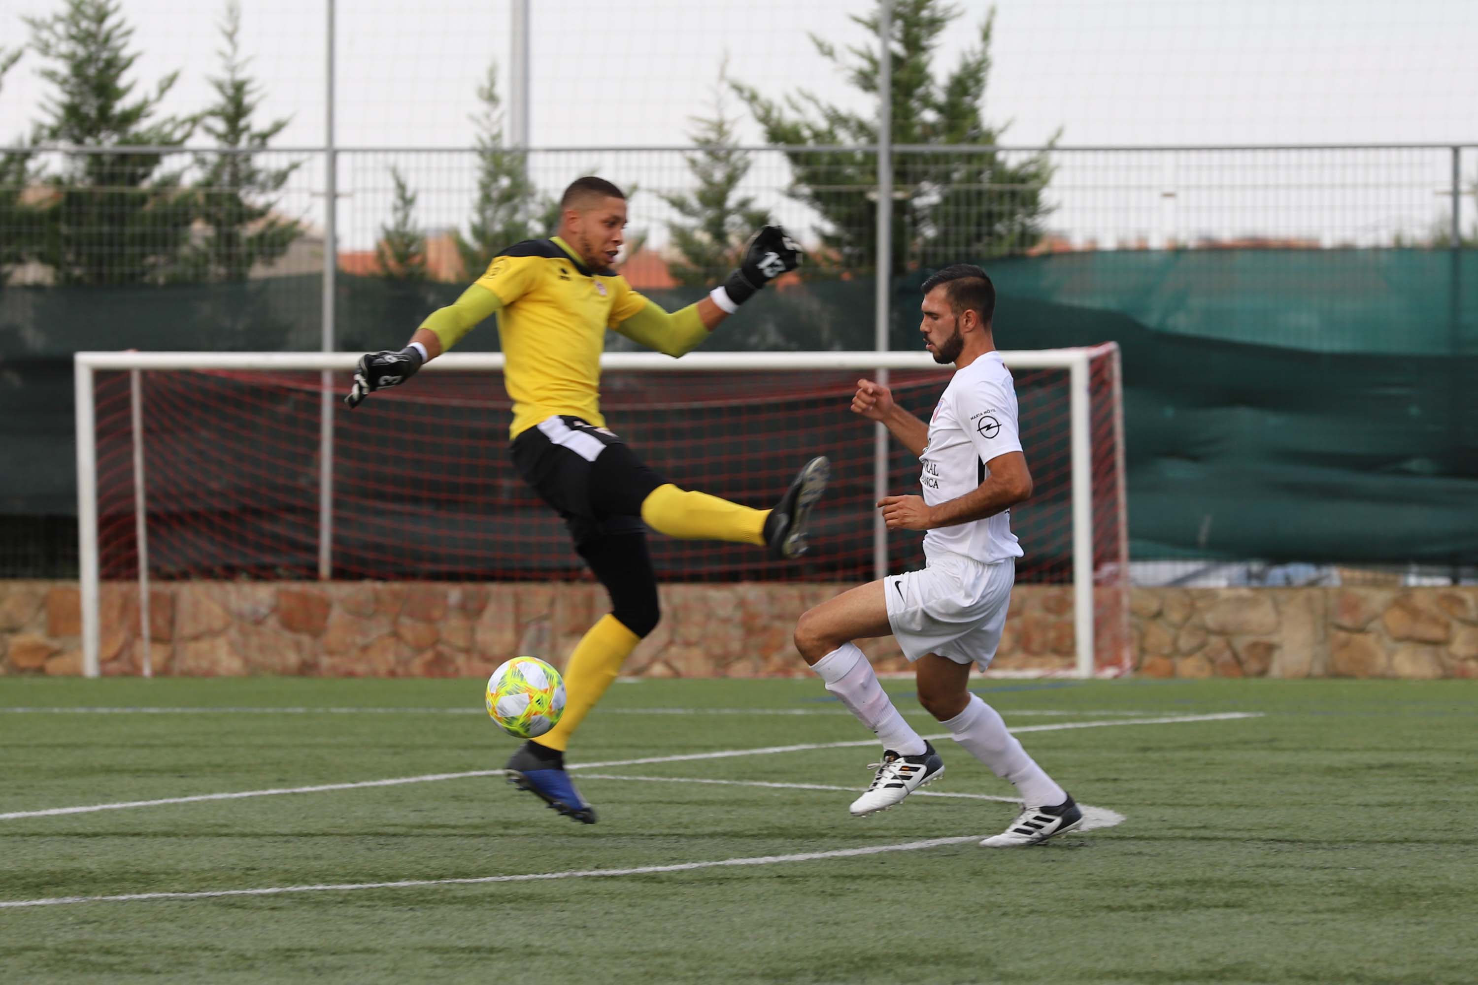
[[[433,312],[409,346],[364,356],[346,399],[355,408],[370,393],[405,382],[498,312],[504,384],[513,399],[513,465],[565,518],[575,551],[606,586],[612,605],[569,656],[568,703],[559,725],[525,743],[508,761],[507,777],[585,824],[594,824],[596,812],[565,771],[565,749],[627,654],[656,628],[656,574],[644,527],[672,538],[754,543],[776,558],[797,558],[806,552],[806,521],[829,470],[825,458],[813,458],[773,509],[751,509],[678,489],[606,428],[600,353],[607,328],[681,356],[800,263],[800,250],[785,230],[766,226],[723,286],[668,313],[610,269],[625,224],[627,198],[619,188],[599,177],[576,180],[560,199],[557,236],[508,247],[455,304]]]

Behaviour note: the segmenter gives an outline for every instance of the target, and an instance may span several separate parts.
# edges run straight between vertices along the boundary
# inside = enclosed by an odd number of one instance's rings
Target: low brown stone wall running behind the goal
[[[848,585],[664,585],[638,676],[788,676],[797,617]],[[133,583],[102,591],[106,675],[139,673]],[[562,665],[606,611],[594,583],[180,582],[149,592],[163,675],[483,676],[510,656]],[[1478,676],[1478,588],[1135,589],[1137,669],[1150,676]],[[995,667],[1070,670],[1072,589],[1018,586]],[[0,673],[81,672],[75,583],[0,582]],[[863,644],[905,670],[893,638]]]

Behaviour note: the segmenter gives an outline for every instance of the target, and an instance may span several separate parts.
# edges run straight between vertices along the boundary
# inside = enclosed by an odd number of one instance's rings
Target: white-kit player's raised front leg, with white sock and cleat
[[[934,747],[903,721],[868,657],[853,642],[890,632],[884,582],[845,591],[808,610],[795,625],[795,648],[806,663],[882,741],[882,761],[869,765],[876,771],[872,784],[851,805],[854,817],[885,811],[944,774]]]

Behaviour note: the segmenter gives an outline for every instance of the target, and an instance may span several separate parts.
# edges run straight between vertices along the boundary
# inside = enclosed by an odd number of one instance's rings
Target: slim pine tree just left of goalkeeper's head
[[[498,253],[523,239],[542,236],[537,220],[559,205],[538,201],[529,180],[525,151],[503,146],[503,99],[498,96],[498,64],[488,65],[488,75],[477,87],[482,112],[471,118],[477,127],[477,204],[467,235],[454,230],[452,238],[461,255],[463,270],[476,278]]]

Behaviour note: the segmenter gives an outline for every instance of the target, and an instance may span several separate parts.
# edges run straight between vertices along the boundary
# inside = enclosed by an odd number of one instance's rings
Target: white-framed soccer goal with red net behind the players
[[[1131,656],[1119,349],[1002,356],[1036,492],[1011,514],[1026,551],[1014,600],[1026,611],[1014,613],[1012,638],[1023,660],[998,665],[1020,675],[1122,673]],[[352,353],[77,354],[87,675],[123,650],[132,657],[109,673],[152,673],[151,583],[587,577],[559,518],[508,464],[501,354],[443,356],[424,371],[435,378],[350,412],[341,397],[355,362]],[[678,484],[766,504],[806,456],[832,459],[801,563],[653,538],[659,579],[837,585],[921,566],[922,535],[884,530],[873,508],[882,495],[918,490],[918,461],[848,406],[859,377],[887,374],[899,403],[928,419],[949,372],[922,351],[607,353],[610,427]]]

